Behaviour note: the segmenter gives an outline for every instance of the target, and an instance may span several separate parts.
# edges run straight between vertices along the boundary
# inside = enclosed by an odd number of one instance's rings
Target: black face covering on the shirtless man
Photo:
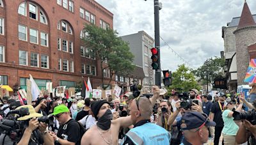
[[[108,130],[111,125],[111,119],[113,114],[111,113],[111,110],[108,109],[106,113],[101,116],[97,121],[97,127],[99,127],[102,130]]]

